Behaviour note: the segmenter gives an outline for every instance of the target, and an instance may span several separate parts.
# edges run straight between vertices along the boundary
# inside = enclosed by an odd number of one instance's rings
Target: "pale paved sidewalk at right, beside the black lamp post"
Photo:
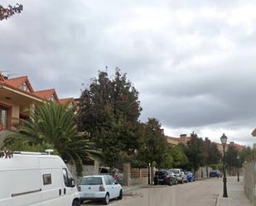
[[[222,188],[223,189],[223,188]],[[216,206],[253,206],[249,199],[244,194],[244,178],[240,177],[240,181],[237,181],[237,177],[227,178],[227,190],[228,198],[223,198],[223,191],[221,191]]]

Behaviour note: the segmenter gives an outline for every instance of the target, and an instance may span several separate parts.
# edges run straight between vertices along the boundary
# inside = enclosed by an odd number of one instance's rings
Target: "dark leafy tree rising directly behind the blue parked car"
[[[186,156],[194,172],[200,166],[205,165],[204,141],[202,138],[197,137],[197,134],[194,132],[191,133],[191,140],[187,143]]]

